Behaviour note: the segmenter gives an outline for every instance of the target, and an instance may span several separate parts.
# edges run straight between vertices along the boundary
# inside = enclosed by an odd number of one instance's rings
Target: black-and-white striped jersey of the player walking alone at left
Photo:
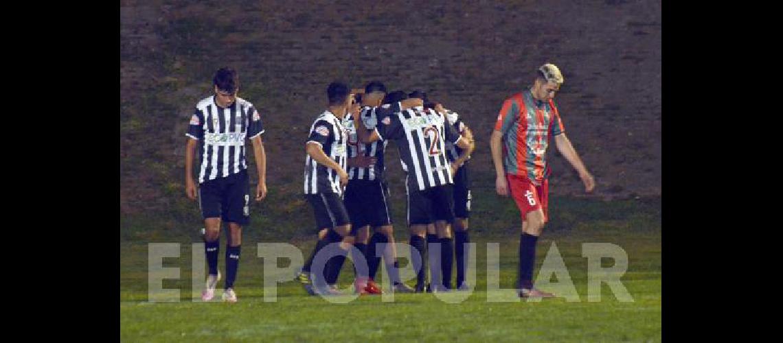
[[[215,103],[214,95],[198,102],[186,136],[201,143],[199,184],[246,170],[245,140],[263,133],[258,110],[243,98],[225,109]]]

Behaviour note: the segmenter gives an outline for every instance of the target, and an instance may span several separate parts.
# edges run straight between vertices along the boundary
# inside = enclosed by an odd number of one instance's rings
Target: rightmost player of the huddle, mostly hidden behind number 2
[[[465,138],[468,138],[471,141],[473,140],[471,129],[465,125],[462,119],[460,119],[458,113],[444,108],[440,103],[433,103],[431,104],[431,107],[438,113],[442,113],[446,116],[446,120],[449,125],[454,127],[454,130],[462,134]],[[453,191],[455,219],[452,222],[452,228],[455,237],[456,287],[460,291],[467,291],[470,289],[465,283],[465,272],[467,268],[465,265],[465,256],[467,255],[466,244],[471,242],[470,236],[467,234],[467,219],[471,214],[471,180],[467,169],[472,153],[472,149],[463,149],[456,145],[446,143],[446,156],[449,158],[449,163],[451,163],[451,169],[456,170],[454,173]],[[451,289],[451,270],[444,270],[442,275],[443,287]]]

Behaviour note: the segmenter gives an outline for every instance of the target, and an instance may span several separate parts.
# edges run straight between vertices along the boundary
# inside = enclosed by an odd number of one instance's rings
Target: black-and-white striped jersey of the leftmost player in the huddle
[[[323,149],[323,153],[339,164],[343,170],[348,163],[346,147],[348,132],[342,120],[334,113],[324,111],[316,118],[310,127],[307,142],[315,142]],[[305,194],[335,193],[342,194],[340,177],[335,170],[317,163],[310,155],[305,154]]]

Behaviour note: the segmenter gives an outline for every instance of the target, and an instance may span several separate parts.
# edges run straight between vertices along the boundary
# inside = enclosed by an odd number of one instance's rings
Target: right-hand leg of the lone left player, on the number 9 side
[[[236,302],[234,281],[239,270],[242,251],[242,227],[250,223],[250,178],[247,170],[226,178],[223,198],[223,220],[229,223],[226,244],[226,284],[223,301]]]

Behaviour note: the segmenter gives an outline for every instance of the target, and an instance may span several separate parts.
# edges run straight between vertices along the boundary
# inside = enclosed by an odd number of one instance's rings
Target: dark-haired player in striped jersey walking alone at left
[[[242,227],[250,223],[250,181],[247,175],[245,140],[253,143],[258,186],[255,201],[266,197],[266,154],[261,134],[264,127],[253,104],[237,98],[239,76],[236,70],[222,68],[212,78],[215,95],[202,99],[190,118],[185,148],[186,194],[199,200],[204,217],[204,250],[209,274],[201,293],[207,302],[215,296],[220,280],[218,252],[221,221],[229,224],[226,246],[226,284],[222,299],[236,302],[233,289],[239,268]],[[199,144],[200,143],[200,144]],[[193,155],[199,145],[199,187],[193,180]]]

